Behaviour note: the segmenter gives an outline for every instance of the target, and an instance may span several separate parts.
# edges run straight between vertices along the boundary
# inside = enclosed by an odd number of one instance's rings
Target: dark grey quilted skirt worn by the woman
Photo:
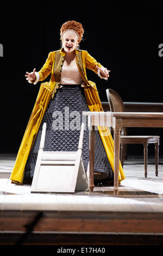
[[[89,111],[84,96],[84,89],[80,85],[64,85],[58,89],[51,99],[43,116],[39,131],[35,138],[25,167],[24,183],[32,182],[37,153],[40,146],[43,123],[47,124],[45,136],[45,151],[77,151],[82,121],[85,123],[83,138],[83,162],[85,170],[89,163],[89,130],[86,117],[82,111]],[[113,179],[113,172],[106,156],[99,132],[96,131],[95,172],[106,178]]]

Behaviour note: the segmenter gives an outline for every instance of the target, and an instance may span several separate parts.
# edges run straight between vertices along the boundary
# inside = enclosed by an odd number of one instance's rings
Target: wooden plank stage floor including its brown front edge
[[[108,185],[98,185],[93,192],[74,194],[30,193],[30,185],[11,184],[9,177],[15,158],[15,155],[0,155],[0,244],[7,244],[7,241],[12,244],[13,239],[29,231],[33,239],[36,234],[42,234],[42,243],[45,242],[43,234],[46,234],[46,239],[48,234],[51,238],[55,236],[57,244],[63,242],[61,237],[65,241],[66,234],[67,243],[70,237],[73,237],[72,240],[75,242],[77,234],[80,234],[78,242],[85,242],[87,237],[86,241],[90,241],[89,244],[91,241],[95,243],[92,237],[97,234],[99,244],[110,244],[109,237],[116,237],[116,243],[122,243],[123,239],[118,240],[117,235],[128,237],[128,244],[133,241],[133,235],[136,235],[136,242],[141,236],[141,243],[144,241],[149,244],[153,236],[155,243],[162,243],[161,160],[159,175],[156,177],[154,160],[148,159],[148,178],[144,177],[143,159],[131,157],[124,162],[126,179],[121,182],[119,196],[114,196],[113,186]],[[59,240],[57,234],[60,234]],[[142,240],[142,235],[148,239]],[[88,239],[88,236],[91,239]],[[101,239],[102,236],[105,238]],[[127,240],[125,241],[127,243]],[[69,241],[68,244],[70,243]]]

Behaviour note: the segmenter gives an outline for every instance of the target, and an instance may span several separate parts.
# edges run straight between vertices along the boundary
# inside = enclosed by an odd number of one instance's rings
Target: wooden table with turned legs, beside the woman
[[[163,127],[163,113],[156,112],[83,112],[87,115],[90,129],[90,191],[93,191],[95,159],[95,126],[114,129],[114,194],[118,195],[118,172],[120,163],[120,136],[122,127]]]

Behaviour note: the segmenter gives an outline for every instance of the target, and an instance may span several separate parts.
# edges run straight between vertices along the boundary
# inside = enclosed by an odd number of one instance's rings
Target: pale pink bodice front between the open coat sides
[[[60,84],[82,84],[83,79],[80,76],[77,65],[62,66]]]

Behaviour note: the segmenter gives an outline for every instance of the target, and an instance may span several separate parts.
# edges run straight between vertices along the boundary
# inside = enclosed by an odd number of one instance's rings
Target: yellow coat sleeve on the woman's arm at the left
[[[53,52],[49,52],[46,63],[42,66],[42,69],[38,72],[40,79],[39,81],[45,80],[45,78],[51,74],[52,67],[54,62],[54,54]]]

